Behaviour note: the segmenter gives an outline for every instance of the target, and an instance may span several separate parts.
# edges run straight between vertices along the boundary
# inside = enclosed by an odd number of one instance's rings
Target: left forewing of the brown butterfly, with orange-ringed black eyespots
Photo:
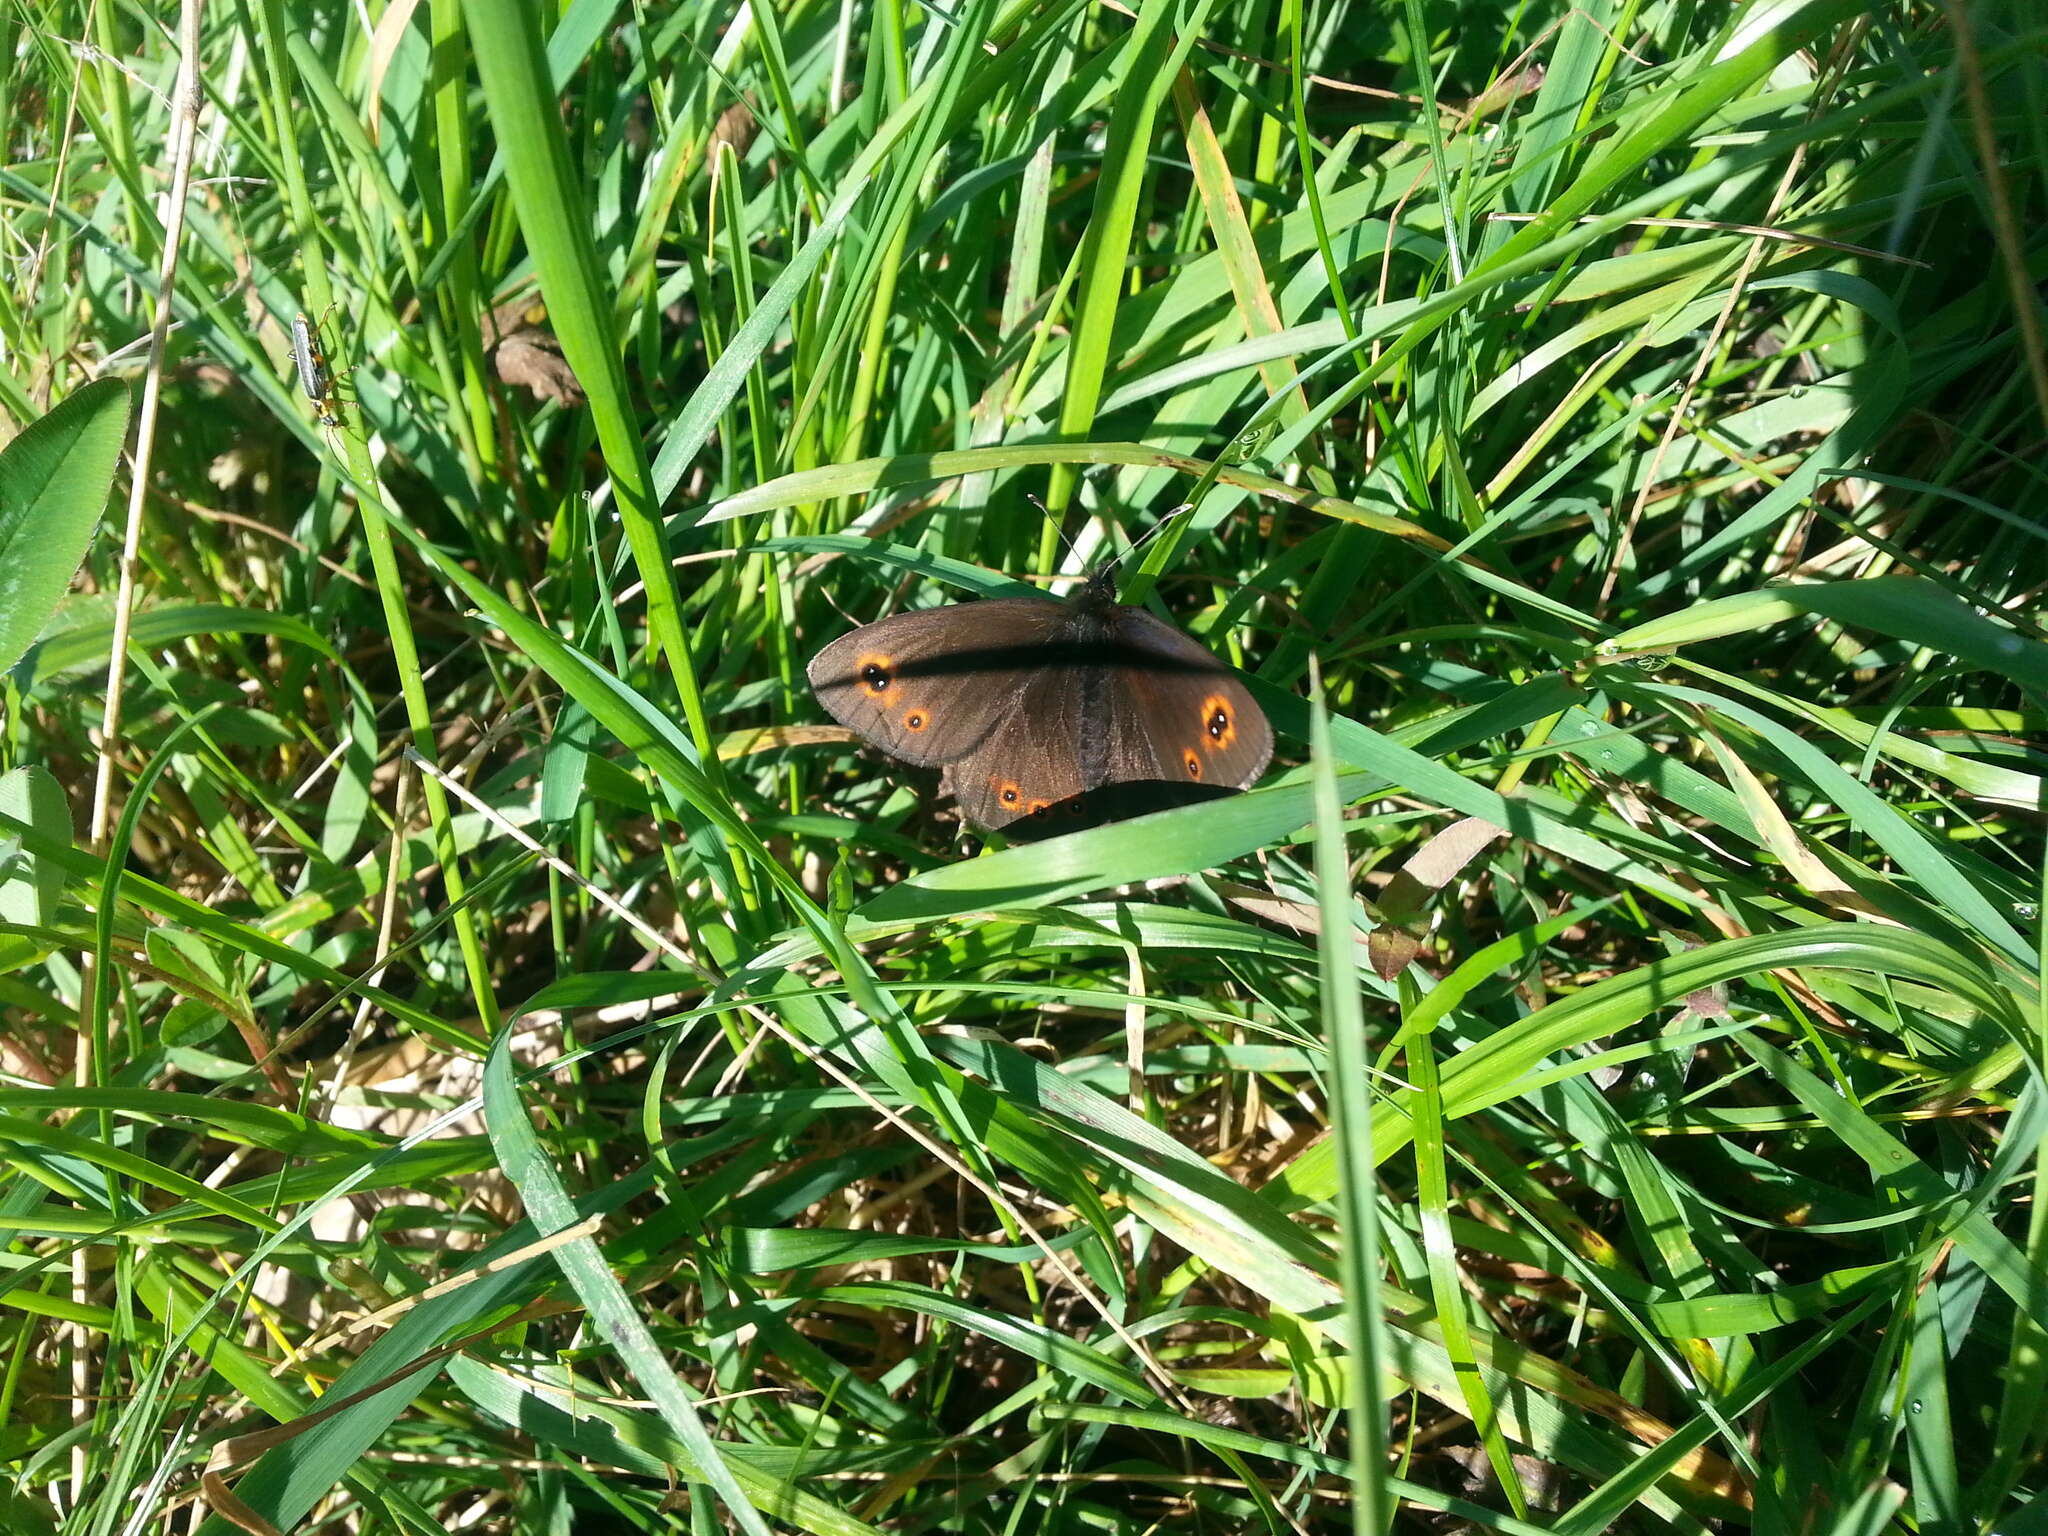
[[[901,612],[813,655],[811,690],[840,725],[891,758],[920,768],[958,762],[1016,715],[1026,662],[1063,616],[1049,598]]]

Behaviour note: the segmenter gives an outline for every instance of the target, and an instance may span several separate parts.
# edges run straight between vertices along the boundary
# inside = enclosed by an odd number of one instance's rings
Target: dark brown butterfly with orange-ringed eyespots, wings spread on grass
[[[1012,838],[1247,788],[1274,733],[1243,682],[1100,571],[1065,602],[991,598],[864,625],[811,657],[811,690],[893,758],[942,766]]]

